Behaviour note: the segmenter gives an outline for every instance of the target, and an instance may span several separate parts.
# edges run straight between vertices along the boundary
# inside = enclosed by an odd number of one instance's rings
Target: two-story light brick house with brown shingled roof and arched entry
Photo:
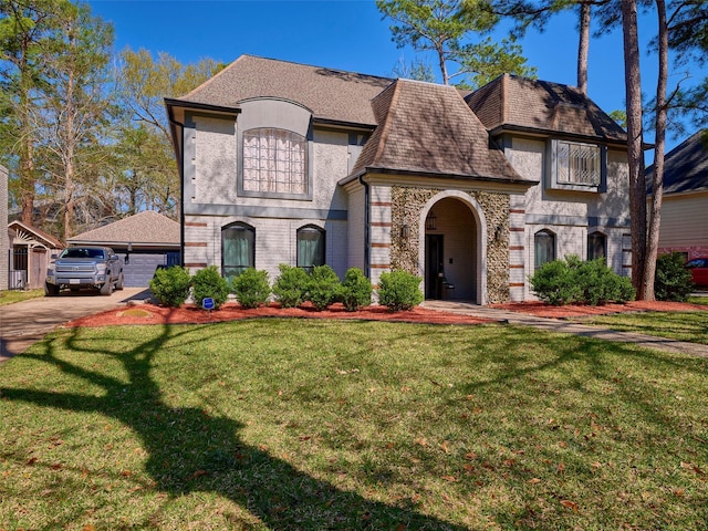
[[[628,273],[626,134],[576,88],[454,87],[243,55],[167,98],[184,264],[404,269],[426,298],[532,299],[554,258]]]

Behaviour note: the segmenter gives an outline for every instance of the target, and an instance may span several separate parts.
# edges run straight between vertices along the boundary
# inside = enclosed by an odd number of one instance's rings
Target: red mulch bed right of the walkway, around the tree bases
[[[606,315],[621,312],[695,312],[708,311],[708,306],[690,304],[688,302],[659,302],[659,301],[633,301],[624,304],[612,303],[601,306],[587,306],[584,304],[566,304],[552,306],[543,302],[509,302],[504,304],[490,304],[490,308],[520,312],[538,317],[571,319],[587,317],[592,315]]]

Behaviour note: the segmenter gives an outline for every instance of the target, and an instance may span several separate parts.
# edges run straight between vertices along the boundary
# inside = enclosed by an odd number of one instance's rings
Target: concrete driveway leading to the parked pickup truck
[[[125,288],[111,296],[94,291],[62,291],[59,296],[0,306],[0,363],[24,352],[63,323],[145,299],[149,299],[147,288]]]

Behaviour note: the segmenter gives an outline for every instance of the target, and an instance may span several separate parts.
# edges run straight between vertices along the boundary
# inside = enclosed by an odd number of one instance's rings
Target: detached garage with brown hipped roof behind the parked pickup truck
[[[126,287],[147,287],[158,266],[179,264],[179,223],[145,210],[70,238],[76,246],[105,246],[123,258]]]

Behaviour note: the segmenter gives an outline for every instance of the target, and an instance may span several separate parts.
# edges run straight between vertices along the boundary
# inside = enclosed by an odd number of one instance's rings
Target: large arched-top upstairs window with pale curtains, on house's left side
[[[274,127],[243,132],[243,190],[308,194],[308,139]]]

